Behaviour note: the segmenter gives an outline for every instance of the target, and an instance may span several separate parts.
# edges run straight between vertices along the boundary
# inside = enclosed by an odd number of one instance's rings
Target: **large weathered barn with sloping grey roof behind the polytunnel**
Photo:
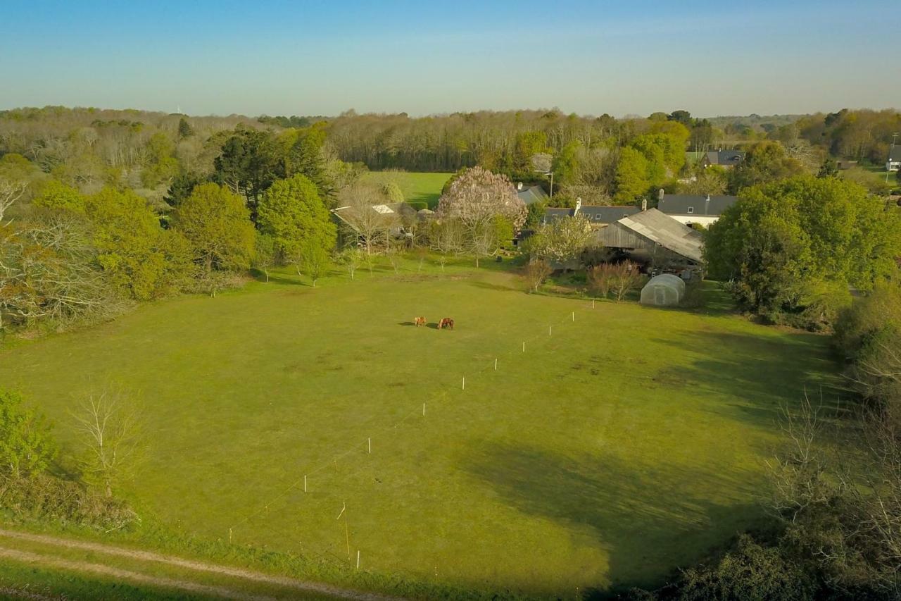
[[[598,244],[633,255],[637,261],[669,269],[700,267],[700,232],[656,208],[623,217],[596,233]]]

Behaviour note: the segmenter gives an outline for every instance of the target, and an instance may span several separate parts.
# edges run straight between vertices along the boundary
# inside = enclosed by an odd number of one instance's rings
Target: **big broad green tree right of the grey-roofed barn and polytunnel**
[[[901,221],[881,199],[836,178],[799,176],[742,191],[706,235],[710,272],[746,310],[798,312],[824,282],[870,290],[896,273]]]

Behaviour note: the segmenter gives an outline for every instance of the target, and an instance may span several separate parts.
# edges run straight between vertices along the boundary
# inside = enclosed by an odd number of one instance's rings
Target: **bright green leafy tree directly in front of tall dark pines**
[[[307,241],[331,251],[338,232],[331,217],[315,184],[304,175],[278,180],[259,201],[259,229],[272,236],[283,260],[298,256]]]

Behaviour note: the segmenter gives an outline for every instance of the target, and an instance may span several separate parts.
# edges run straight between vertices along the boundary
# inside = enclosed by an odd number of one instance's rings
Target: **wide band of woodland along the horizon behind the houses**
[[[104,186],[132,189],[165,213],[173,190],[184,194],[217,174],[231,178],[235,191],[259,193],[290,171],[285,153],[306,137],[314,139],[303,152],[315,156],[305,160],[320,165],[329,194],[367,169],[459,171],[478,164],[549,190],[553,171],[555,204],[571,205],[577,197],[632,204],[652,199],[659,188],[735,193],[769,179],[751,169],[732,180],[718,170],[698,171],[694,159],[705,150],[742,148],[753,159],[755,147],[771,143],[758,153],[756,171],[815,172],[838,159],[883,164],[899,131],[895,110],[701,119],[682,110],[622,119],[557,109],[424,117],[351,110],[335,117],[253,118],[46,106],[0,111],[0,177],[26,180],[26,201],[52,179],[86,194]],[[230,151],[232,171],[243,173],[225,175],[223,165],[217,167]],[[875,178],[861,183],[884,191]]]

